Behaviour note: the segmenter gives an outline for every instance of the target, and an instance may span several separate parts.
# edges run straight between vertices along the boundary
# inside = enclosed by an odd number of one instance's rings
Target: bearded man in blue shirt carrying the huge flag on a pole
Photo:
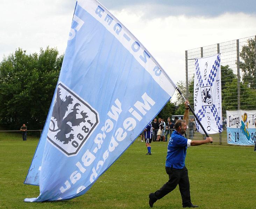
[[[190,146],[198,146],[209,143],[211,137],[205,140],[190,140],[186,139],[183,134],[187,130],[187,123],[189,121],[189,102],[185,102],[184,120],[177,120],[175,123],[175,131],[172,132],[171,138],[168,143],[167,156],[165,163],[166,173],[169,175],[169,181],[162,186],[159,190],[149,194],[149,206],[152,208],[153,204],[163,198],[166,194],[170,193],[179,185],[179,191],[182,196],[183,208],[197,208],[193,205],[190,199],[190,184],[188,171],[185,166],[185,157],[187,148]]]

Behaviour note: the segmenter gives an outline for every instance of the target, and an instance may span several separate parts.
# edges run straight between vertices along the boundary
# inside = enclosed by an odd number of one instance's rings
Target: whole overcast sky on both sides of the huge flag
[[[174,82],[185,80],[185,50],[256,35],[255,0],[100,2],[148,49]],[[34,53],[50,46],[64,53],[75,3],[0,0],[0,61],[19,47]]]

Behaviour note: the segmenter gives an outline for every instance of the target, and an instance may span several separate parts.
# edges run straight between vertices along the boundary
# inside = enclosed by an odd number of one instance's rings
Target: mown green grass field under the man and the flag
[[[25,203],[39,187],[24,185],[38,138],[0,132],[0,209],[144,209],[148,194],[167,180],[167,142],[153,142],[152,155],[136,140],[85,194],[58,202]],[[187,151],[192,203],[200,208],[253,209],[256,191],[256,152],[252,146],[202,145]],[[182,208],[179,189],[154,204],[155,209]]]

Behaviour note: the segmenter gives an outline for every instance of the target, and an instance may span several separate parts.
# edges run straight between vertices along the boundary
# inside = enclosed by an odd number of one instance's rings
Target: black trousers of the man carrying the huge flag
[[[190,204],[190,184],[187,168],[175,169],[165,167],[166,173],[169,175],[169,181],[162,186],[161,189],[152,193],[152,200],[157,201],[163,198],[166,194],[170,193],[173,189],[179,185],[179,191],[182,196],[182,204]]]

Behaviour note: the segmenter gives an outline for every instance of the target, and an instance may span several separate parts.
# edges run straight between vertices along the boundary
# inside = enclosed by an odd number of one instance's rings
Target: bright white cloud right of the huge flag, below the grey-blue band
[[[216,17],[185,15],[143,18],[123,9],[112,14],[148,49],[174,82],[185,80],[185,51],[255,35],[256,16],[225,13]]]

